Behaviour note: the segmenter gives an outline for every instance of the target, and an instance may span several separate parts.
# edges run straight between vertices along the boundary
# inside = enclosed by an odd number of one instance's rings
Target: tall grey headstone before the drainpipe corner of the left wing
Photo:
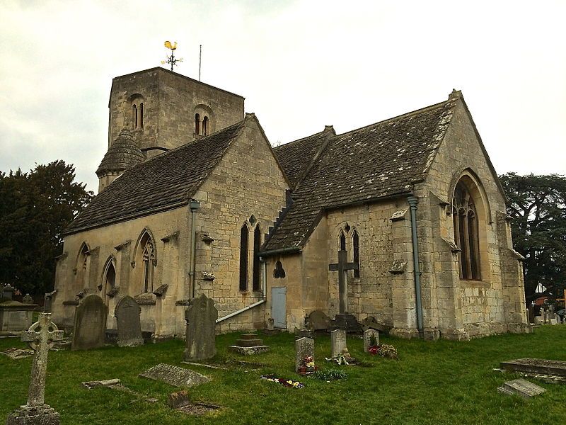
[[[185,310],[187,346],[185,361],[204,360],[216,356],[216,319],[214,300],[202,294],[190,300]]]

